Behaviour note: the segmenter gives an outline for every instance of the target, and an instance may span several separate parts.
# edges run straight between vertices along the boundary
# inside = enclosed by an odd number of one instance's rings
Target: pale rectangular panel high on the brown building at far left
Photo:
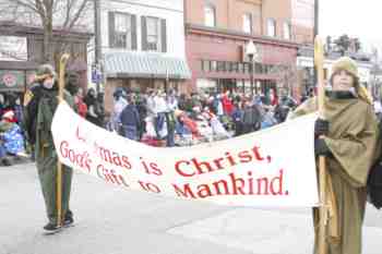
[[[26,37],[0,36],[0,61],[27,61]]]

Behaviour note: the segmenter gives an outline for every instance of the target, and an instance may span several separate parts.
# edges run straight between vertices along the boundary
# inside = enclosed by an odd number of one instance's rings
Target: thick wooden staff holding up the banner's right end
[[[323,71],[323,44],[319,36],[314,39],[314,64],[317,70],[318,81],[318,97],[319,97],[319,116],[325,119],[324,110],[324,71]],[[320,137],[319,137],[320,138]],[[325,156],[319,157],[319,182],[320,182],[320,223],[319,223],[319,254],[326,254],[326,222],[327,222],[327,204],[326,204],[326,164]]]

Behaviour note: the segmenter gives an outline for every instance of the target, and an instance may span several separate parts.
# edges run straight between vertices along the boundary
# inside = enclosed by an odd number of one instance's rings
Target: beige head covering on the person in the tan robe
[[[366,89],[363,85],[359,84],[358,68],[357,68],[356,61],[354,61],[351,58],[348,58],[348,57],[342,57],[338,60],[336,60],[332,65],[331,81],[333,76],[337,74],[339,71],[346,71],[355,77],[355,88],[358,97],[365,100],[366,102],[372,105],[371,95],[369,94],[369,92]]]

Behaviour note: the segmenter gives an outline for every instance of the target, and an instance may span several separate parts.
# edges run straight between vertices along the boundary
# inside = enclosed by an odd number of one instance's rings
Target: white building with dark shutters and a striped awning
[[[117,87],[187,89],[182,0],[102,1],[105,109]]]

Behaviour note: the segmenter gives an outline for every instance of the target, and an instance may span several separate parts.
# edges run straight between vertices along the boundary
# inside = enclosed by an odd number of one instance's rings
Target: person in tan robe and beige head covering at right
[[[315,122],[315,155],[326,156],[329,221],[327,254],[360,254],[369,170],[379,155],[378,121],[370,97],[359,85],[356,63],[338,59],[332,68],[324,118]],[[298,107],[296,118],[318,110],[317,97]],[[319,137],[324,135],[324,137]],[[319,213],[313,209],[314,253],[318,253]]]

